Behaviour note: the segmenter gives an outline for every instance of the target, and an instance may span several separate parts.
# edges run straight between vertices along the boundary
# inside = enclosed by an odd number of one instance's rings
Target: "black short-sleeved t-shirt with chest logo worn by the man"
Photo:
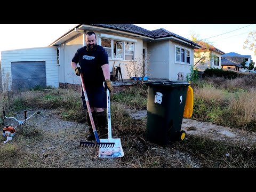
[[[77,50],[73,62],[81,67],[85,86],[102,86],[105,81],[101,66],[108,64],[108,53],[97,45],[94,51],[87,51],[86,46]]]

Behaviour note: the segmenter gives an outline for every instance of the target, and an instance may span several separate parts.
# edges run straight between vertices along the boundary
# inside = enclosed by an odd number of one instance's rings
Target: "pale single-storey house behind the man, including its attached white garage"
[[[10,74],[11,87],[80,84],[70,62],[77,49],[85,44],[85,33],[89,30],[95,32],[97,44],[108,52],[110,71],[121,67],[123,79],[135,76],[126,67],[131,68],[131,61],[136,61],[137,65],[142,63],[148,78],[177,81],[178,74],[186,77],[190,73],[194,49],[201,48],[163,28],[149,31],[132,24],[79,24],[48,47],[3,51],[2,71]]]

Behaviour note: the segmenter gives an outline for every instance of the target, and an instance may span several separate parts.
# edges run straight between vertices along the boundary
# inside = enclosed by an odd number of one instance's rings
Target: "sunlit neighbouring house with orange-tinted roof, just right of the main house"
[[[207,68],[221,69],[221,57],[225,52],[203,41],[198,41],[197,44],[202,47],[194,50],[194,68],[202,73]]]

